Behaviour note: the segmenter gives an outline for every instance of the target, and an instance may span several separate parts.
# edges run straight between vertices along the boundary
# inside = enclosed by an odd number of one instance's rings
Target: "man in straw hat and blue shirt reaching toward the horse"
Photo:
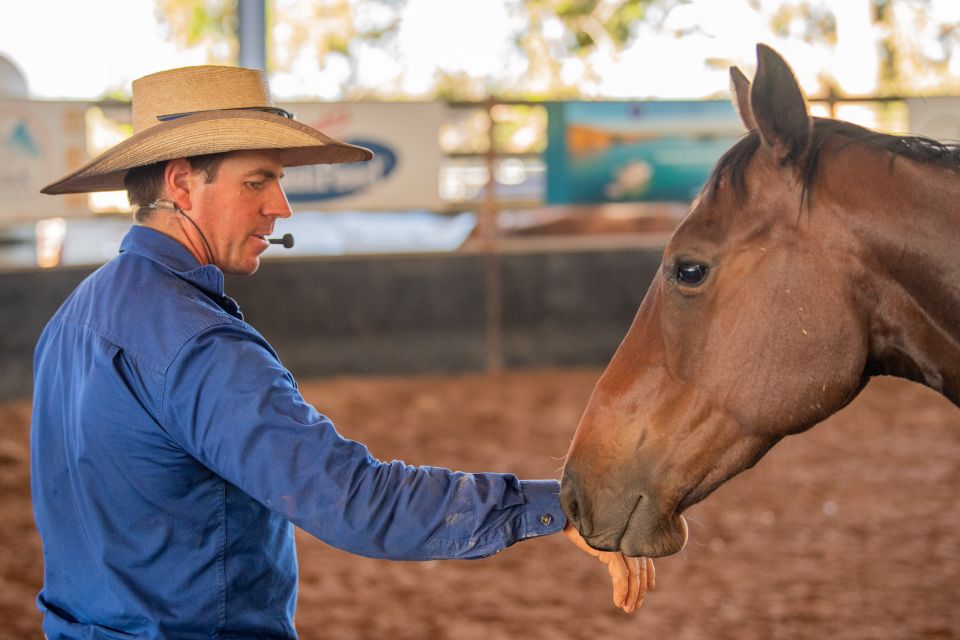
[[[135,225],[37,345],[32,490],[48,638],[293,638],[291,523],[365,556],[479,558],[563,530],[555,481],[375,460],[300,396],[224,295],[291,215],[285,166],[369,160],[260,72],[134,82],[134,135],[44,189],[126,188]],[[615,603],[653,566],[589,549]],[[127,634],[127,635],[124,635]]]

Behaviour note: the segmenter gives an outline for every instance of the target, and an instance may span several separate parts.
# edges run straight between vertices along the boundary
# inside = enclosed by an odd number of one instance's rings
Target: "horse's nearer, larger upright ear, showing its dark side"
[[[750,110],[760,139],[783,163],[796,162],[810,143],[813,120],[793,71],[780,54],[757,45]]]

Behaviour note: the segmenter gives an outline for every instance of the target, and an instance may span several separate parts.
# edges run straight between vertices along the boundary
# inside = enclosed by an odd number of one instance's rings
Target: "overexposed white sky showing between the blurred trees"
[[[400,82],[417,94],[429,90],[438,69],[480,77],[519,73],[523,61],[512,49],[508,28],[515,24],[510,7],[516,3],[408,0],[398,40],[400,59],[367,51],[356,78],[373,86]],[[761,0],[767,14],[779,4],[781,0]],[[726,70],[708,68],[704,60],[733,60],[749,74],[754,43],[763,41],[784,54],[809,93],[818,93],[818,75],[825,69],[836,73],[851,93],[869,92],[877,64],[869,0],[811,4],[829,6],[837,17],[840,44],[834,51],[810,47],[799,38],[774,38],[767,18],[757,15],[748,0],[692,0],[671,11],[663,29],[642,25],[636,43],[618,59],[599,60],[602,84],[595,90],[610,98],[697,98],[724,92]],[[958,19],[960,1],[935,0],[934,12]],[[693,35],[674,37],[691,28],[697,29]],[[205,61],[202,51],[179,50],[166,41],[153,0],[6,0],[0,9],[0,54],[25,73],[31,97],[41,99],[97,98],[108,90],[129,89],[142,75]],[[580,71],[575,62],[564,69],[571,77]],[[281,99],[307,92],[336,99],[337,81],[347,73],[344,64],[333,61],[320,69],[307,56],[297,60],[293,73],[276,74],[272,86]]]

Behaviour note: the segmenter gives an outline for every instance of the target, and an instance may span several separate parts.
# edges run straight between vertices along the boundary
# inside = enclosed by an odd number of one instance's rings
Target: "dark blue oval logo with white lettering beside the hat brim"
[[[370,140],[349,142],[373,151],[373,160],[289,167],[283,178],[287,199],[290,202],[314,202],[356,195],[383,182],[396,169],[397,154],[389,147]]]

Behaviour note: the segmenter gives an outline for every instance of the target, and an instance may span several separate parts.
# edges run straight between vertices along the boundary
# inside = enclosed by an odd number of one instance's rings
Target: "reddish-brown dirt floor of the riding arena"
[[[381,458],[558,477],[598,370],[330,379],[304,393]],[[40,636],[29,405],[0,405],[0,638]],[[305,535],[305,639],[960,638],[960,410],[872,382],[689,511],[631,616],[560,536],[479,561],[386,562]]]

